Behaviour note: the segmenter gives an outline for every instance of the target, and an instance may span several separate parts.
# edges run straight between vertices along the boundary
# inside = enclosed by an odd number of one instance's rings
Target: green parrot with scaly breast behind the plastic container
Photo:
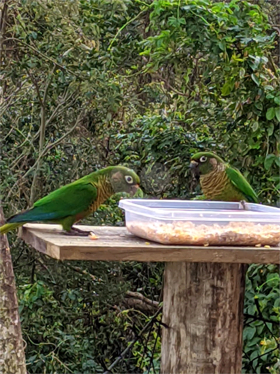
[[[259,202],[256,192],[241,172],[212,152],[195,153],[190,168],[199,175],[207,200]]]

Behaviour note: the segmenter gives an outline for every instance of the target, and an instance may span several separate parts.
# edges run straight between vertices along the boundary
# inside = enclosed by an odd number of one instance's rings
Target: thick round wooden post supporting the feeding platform
[[[246,266],[166,262],[161,373],[241,373]]]

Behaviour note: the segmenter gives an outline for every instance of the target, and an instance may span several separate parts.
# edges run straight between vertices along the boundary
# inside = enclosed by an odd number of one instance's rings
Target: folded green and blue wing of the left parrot
[[[61,187],[35,202],[25,212],[10,217],[7,222],[32,222],[62,219],[88,209],[97,197],[97,188],[87,180]]]

